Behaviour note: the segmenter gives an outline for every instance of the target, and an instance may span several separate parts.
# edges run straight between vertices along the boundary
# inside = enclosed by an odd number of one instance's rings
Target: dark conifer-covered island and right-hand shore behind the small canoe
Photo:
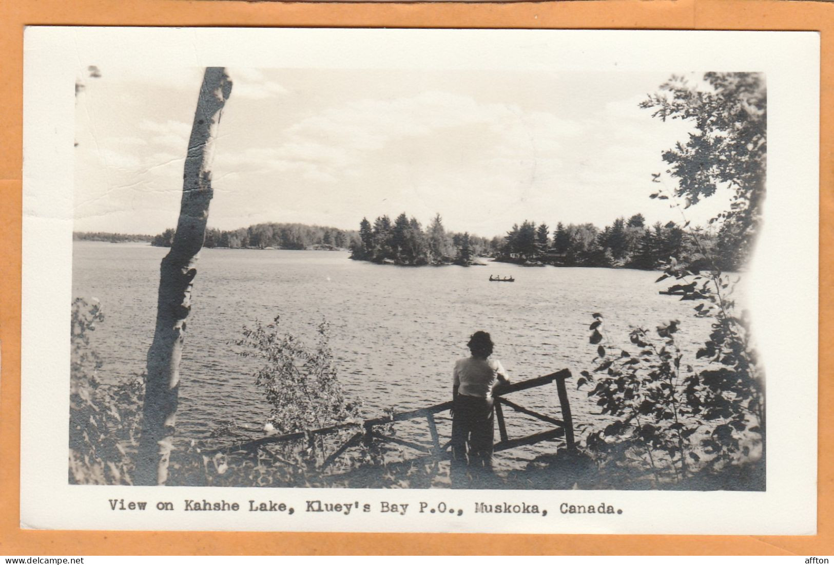
[[[723,230],[687,229],[675,222],[646,225],[643,214],[620,217],[603,229],[594,224],[514,224],[501,238],[447,232],[440,214],[424,230],[414,216],[402,213],[392,222],[382,215],[371,224],[363,218],[351,259],[393,265],[475,265],[479,257],[519,265],[625,267],[656,270],[670,257],[703,268],[736,270],[742,258]],[[706,260],[710,257],[710,260]]]

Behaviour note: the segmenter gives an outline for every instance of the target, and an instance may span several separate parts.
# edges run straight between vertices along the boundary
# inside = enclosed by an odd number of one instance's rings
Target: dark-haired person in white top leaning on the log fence
[[[467,344],[472,355],[455,363],[452,384],[452,481],[466,467],[492,472],[495,429],[493,391],[509,385],[501,362],[490,359],[490,334],[476,331]]]

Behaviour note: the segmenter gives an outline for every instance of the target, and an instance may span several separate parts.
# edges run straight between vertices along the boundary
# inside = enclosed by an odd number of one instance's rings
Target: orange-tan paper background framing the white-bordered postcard
[[[821,273],[818,534],[813,537],[35,532],[18,527],[23,28],[40,25],[388,28],[772,29],[821,32]],[[769,0],[557,3],[244,3],[8,0],[0,4],[0,553],[89,554],[798,554],[834,550],[831,512],[831,106],[834,4]]]

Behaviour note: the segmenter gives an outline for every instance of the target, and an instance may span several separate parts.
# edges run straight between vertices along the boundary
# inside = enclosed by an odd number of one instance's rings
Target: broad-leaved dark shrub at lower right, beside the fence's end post
[[[713,319],[696,353],[695,363],[706,366],[696,370],[683,362],[675,341],[678,320],[654,332],[632,330],[631,345],[638,351],[631,352],[605,346],[602,316],[594,314],[590,342],[597,346],[598,366],[582,371],[577,386],[590,383],[588,396],[612,421],[591,431],[586,446],[604,466],[651,469],[656,486],[728,472],[731,464],[754,459],[756,446],[763,470],[763,376],[746,316],[735,314],[731,280],[717,271],[693,273],[675,260],[658,282],[669,277],[681,281],[670,289],[681,300],[697,301],[696,317]]]

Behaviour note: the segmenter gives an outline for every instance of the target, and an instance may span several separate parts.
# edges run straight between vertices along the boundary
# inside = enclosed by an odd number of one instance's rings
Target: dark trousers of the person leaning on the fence
[[[495,411],[492,399],[459,394],[452,416],[452,481],[492,471]],[[470,472],[467,472],[470,471]]]

